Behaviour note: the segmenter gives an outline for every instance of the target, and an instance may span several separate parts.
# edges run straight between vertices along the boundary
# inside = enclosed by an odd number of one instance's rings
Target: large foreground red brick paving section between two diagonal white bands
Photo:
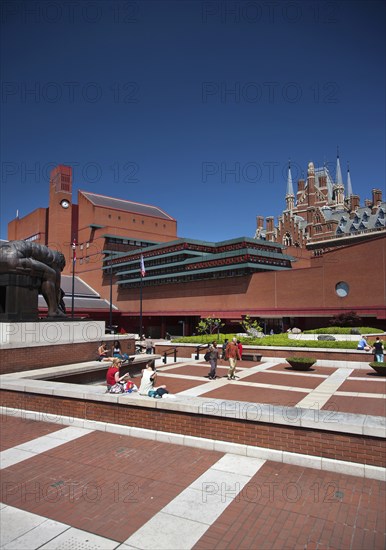
[[[3,469],[2,502],[123,542],[221,456],[93,432]]]

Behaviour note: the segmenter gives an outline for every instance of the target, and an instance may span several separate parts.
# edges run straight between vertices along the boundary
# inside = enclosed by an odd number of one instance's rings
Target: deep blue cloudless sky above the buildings
[[[383,1],[13,0],[1,22],[1,238],[59,163],[209,241],[281,213],[288,159],[296,184],[339,147],[361,204],[386,196]]]

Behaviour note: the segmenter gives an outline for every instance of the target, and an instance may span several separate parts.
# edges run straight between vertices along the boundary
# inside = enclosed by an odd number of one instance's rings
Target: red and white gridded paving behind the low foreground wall
[[[273,363],[273,364],[272,364]],[[275,364],[239,361],[236,380],[227,380],[228,365],[220,361],[217,379],[208,379],[209,364],[186,361],[158,367],[157,384],[165,384],[172,394],[182,393],[214,399],[247,401],[282,405],[303,406],[304,399],[320,404],[324,410],[386,416],[386,379],[368,369],[350,369],[330,366],[313,366],[307,372],[293,370],[287,363]],[[336,375],[341,381],[336,383]],[[335,376],[331,389],[326,388],[330,377]],[[339,379],[340,380],[340,379]],[[323,384],[325,400],[320,400],[319,389]],[[330,395],[328,392],[330,391]]]

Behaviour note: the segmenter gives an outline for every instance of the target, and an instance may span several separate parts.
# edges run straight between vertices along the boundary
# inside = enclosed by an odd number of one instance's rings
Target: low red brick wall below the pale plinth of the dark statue
[[[122,343],[122,339],[120,339]],[[127,343],[126,343],[127,342]],[[7,347],[0,349],[0,373],[24,372],[56,365],[94,361],[100,342],[73,342],[50,346]],[[122,351],[133,355],[134,340],[126,340]]]

